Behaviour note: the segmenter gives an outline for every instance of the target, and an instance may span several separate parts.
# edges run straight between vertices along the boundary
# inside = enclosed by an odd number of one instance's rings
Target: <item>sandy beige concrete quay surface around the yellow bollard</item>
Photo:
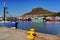
[[[13,30],[11,28],[0,27],[0,40],[30,40],[26,38],[26,33],[27,31],[24,30]],[[35,40],[60,40],[60,37],[37,33]]]

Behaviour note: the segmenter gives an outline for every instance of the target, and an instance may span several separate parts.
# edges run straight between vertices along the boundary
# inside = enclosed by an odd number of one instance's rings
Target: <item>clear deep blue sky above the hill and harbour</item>
[[[60,12],[60,0],[6,0],[8,16],[21,16],[41,7],[52,12]],[[0,0],[0,15],[4,12],[4,0]]]

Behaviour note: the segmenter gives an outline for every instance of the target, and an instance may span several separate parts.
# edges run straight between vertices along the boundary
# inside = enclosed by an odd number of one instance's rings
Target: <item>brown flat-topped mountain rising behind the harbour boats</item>
[[[54,12],[48,11],[43,8],[34,8],[31,12],[25,13],[23,16],[25,17],[40,17],[40,16],[49,16],[52,15]]]

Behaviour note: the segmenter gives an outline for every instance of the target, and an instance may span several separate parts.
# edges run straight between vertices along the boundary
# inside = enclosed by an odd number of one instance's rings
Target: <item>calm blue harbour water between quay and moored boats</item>
[[[11,23],[5,23],[5,26],[10,26]],[[35,22],[23,22],[20,21],[18,24],[18,29],[29,30],[30,28],[35,28],[36,32],[53,34],[60,36],[60,22],[43,22],[43,23],[35,23]]]

